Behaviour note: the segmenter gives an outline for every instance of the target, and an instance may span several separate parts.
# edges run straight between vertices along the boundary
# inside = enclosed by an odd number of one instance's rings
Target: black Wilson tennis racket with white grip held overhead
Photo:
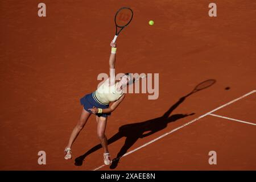
[[[113,43],[117,40],[118,35],[123,30],[123,28],[127,27],[127,25],[133,19],[133,10],[130,7],[121,7],[115,14],[115,36],[113,39]],[[119,31],[118,31],[118,28]]]

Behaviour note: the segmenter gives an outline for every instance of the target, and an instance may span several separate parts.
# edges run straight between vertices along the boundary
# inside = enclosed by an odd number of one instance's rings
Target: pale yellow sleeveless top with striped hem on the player
[[[104,82],[95,92],[93,92],[93,98],[97,102],[103,105],[108,105],[110,102],[117,101],[123,95],[123,90],[117,91],[117,82],[109,86],[107,82]]]

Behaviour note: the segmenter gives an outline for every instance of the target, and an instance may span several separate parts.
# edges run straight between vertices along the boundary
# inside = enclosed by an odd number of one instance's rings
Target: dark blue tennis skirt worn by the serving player
[[[96,101],[94,99],[95,94],[94,92],[90,93],[90,94],[86,94],[84,97],[80,98],[80,103],[81,105],[84,106],[84,109],[86,111],[88,111],[89,113],[92,113],[92,111],[88,110],[88,109],[92,109],[93,106],[97,107],[97,108],[101,108],[101,109],[107,109],[109,108],[109,104],[108,105],[104,105],[104,104],[100,104],[98,101]],[[108,115],[111,115],[111,113],[97,113],[96,114],[98,117],[108,117]]]

